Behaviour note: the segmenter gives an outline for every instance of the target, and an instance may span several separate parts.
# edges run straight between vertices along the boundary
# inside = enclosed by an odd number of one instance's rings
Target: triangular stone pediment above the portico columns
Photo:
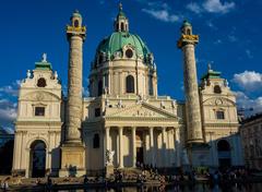
[[[106,117],[178,119],[175,115],[146,103],[135,104],[127,108],[121,108],[117,112],[107,112]]]

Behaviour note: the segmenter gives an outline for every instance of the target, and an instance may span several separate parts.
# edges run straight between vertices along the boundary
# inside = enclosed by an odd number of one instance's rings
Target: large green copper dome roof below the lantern
[[[98,45],[96,56],[105,53],[112,59],[114,55],[118,51],[121,52],[124,46],[132,47],[136,57],[145,59],[151,53],[150,49],[140,36],[128,32],[114,32],[109,37],[104,38]]]

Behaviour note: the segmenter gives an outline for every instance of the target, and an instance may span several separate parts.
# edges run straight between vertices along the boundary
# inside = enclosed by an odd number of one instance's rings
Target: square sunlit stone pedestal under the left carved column
[[[85,147],[80,143],[63,144],[59,177],[81,177],[85,173]]]

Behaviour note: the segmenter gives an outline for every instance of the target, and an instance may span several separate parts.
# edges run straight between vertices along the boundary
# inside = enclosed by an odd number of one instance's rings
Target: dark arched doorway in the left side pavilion
[[[46,172],[46,144],[37,140],[31,145],[32,178],[45,177]]]

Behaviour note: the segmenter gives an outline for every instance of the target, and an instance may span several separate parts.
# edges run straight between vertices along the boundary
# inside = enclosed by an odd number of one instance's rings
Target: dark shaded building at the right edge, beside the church
[[[245,164],[251,169],[262,169],[262,115],[258,113],[241,122],[240,135]]]

